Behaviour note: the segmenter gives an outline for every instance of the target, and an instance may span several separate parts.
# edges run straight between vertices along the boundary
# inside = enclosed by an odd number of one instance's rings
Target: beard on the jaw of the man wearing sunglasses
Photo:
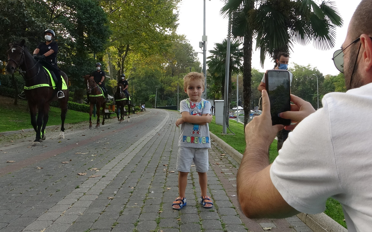
[[[350,53],[351,59],[349,59],[348,66],[344,70],[346,90],[359,88],[360,86],[363,85],[359,73],[359,63],[356,61],[356,59],[359,59],[358,56],[359,51],[360,49],[355,49]]]

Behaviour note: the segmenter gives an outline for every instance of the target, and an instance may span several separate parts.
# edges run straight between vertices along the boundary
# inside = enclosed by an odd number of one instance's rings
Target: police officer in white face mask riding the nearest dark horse
[[[53,41],[55,38],[55,33],[51,29],[44,31],[45,42],[40,43],[38,47],[33,51],[33,58],[40,61],[41,65],[45,66],[52,75],[52,78],[56,82],[56,87],[58,89],[57,97],[64,98],[65,95],[62,92],[62,78],[60,69],[57,66],[57,52],[58,44]],[[19,95],[20,98],[25,99],[25,94],[22,92]]]

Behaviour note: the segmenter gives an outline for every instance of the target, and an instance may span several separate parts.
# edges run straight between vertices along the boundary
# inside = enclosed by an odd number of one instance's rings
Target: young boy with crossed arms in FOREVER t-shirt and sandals
[[[172,204],[173,209],[186,206],[187,174],[191,162],[194,161],[199,175],[201,189],[201,204],[204,208],[211,208],[213,203],[207,195],[208,148],[209,140],[208,123],[212,121],[211,103],[202,99],[204,91],[203,73],[190,72],[183,78],[183,88],[189,98],[180,102],[181,118],[176,121],[176,126],[181,125],[178,141],[178,191],[179,197]]]

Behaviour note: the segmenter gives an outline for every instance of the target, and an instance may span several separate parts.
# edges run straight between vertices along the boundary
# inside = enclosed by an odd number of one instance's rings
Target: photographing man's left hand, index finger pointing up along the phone
[[[283,130],[283,125],[272,125],[270,114],[270,100],[267,91],[262,91],[262,114],[253,118],[251,122],[246,125],[246,143],[261,144],[263,149],[267,151],[270,144],[275,139],[278,131]]]

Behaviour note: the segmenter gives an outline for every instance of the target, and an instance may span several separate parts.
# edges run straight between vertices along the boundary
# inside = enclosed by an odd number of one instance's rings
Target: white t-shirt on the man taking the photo
[[[372,83],[326,94],[322,103],[289,133],[271,180],[296,210],[323,212],[333,197],[349,231],[372,231]]]

